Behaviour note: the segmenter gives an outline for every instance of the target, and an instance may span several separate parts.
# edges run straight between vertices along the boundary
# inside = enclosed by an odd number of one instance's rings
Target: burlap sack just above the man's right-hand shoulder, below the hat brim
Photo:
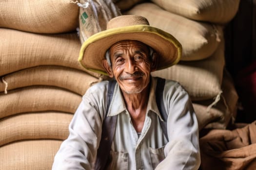
[[[207,59],[179,62],[177,65],[151,74],[179,82],[188,91],[192,101],[203,101],[211,100],[221,94],[224,65],[222,41],[215,53]]]

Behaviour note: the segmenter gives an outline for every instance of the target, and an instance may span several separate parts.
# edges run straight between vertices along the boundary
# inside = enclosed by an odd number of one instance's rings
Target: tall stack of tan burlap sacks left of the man
[[[0,170],[50,170],[101,75],[78,62],[76,3],[1,0],[0,11]]]

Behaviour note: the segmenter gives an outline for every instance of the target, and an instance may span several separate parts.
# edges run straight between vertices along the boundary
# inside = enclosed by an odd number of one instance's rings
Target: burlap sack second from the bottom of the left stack
[[[0,146],[27,139],[67,138],[73,114],[63,112],[25,113],[0,120]]]

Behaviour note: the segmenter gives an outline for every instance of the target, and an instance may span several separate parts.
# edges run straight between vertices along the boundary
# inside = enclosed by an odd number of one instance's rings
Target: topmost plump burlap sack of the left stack
[[[33,33],[64,33],[78,27],[72,0],[0,0],[0,27]]]

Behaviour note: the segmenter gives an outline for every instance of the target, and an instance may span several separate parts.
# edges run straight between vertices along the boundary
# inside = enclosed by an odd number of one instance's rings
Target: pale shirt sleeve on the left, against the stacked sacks
[[[104,88],[89,88],[69,125],[69,136],[56,153],[52,170],[91,170],[101,138]],[[96,102],[98,101],[98,102]]]

